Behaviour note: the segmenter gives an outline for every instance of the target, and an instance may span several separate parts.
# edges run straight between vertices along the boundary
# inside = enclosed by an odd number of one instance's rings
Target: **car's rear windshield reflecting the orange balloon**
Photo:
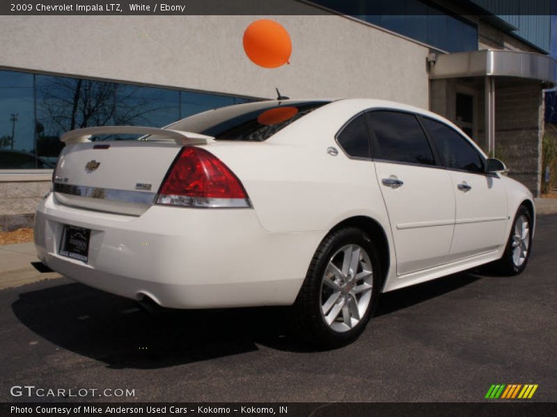
[[[166,129],[200,133],[216,140],[262,142],[331,101],[259,101],[187,117]]]

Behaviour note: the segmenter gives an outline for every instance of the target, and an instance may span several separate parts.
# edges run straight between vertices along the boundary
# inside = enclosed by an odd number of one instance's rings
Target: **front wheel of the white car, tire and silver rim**
[[[520,206],[510,229],[503,257],[493,264],[502,275],[518,275],[528,263],[532,249],[532,217],[525,206]]]

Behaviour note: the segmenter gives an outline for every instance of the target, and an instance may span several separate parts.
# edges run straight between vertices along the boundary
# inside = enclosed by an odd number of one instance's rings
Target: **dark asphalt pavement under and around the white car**
[[[10,393],[27,385],[133,390],[88,401],[475,402],[492,384],[538,384],[532,400],[557,401],[556,236],[557,215],[538,218],[518,277],[382,295],[361,338],[328,352],[290,336],[281,308],[146,313],[65,278],[4,289],[0,400],[80,399]]]

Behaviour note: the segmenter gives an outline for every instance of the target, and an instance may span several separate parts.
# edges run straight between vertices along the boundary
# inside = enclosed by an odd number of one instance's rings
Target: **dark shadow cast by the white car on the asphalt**
[[[376,316],[439,297],[477,279],[453,275],[383,294]],[[132,300],[67,283],[20,293],[13,312],[38,336],[109,368],[165,368],[253,352],[260,349],[258,345],[315,351],[292,336],[286,307],[148,312]]]

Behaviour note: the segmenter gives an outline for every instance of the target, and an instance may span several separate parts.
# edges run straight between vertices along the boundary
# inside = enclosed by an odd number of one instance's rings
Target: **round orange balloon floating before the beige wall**
[[[276,68],[288,63],[292,54],[292,41],[281,24],[261,19],[246,28],[244,51],[256,65]]]

